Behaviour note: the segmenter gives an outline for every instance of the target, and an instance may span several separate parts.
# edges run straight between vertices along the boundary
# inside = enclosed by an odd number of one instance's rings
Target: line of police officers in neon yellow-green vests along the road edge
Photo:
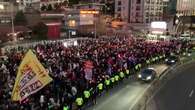
[[[135,67],[132,71],[130,71],[129,69],[126,69],[124,71],[116,73],[109,78],[108,77],[105,78],[104,81],[98,82],[98,84],[95,88],[91,88],[89,90],[83,91],[83,95],[77,97],[75,100],[75,103],[78,107],[78,110],[81,110],[83,105],[88,103],[88,101],[90,99],[94,100],[96,103],[96,97],[98,95],[101,95],[101,93],[104,90],[108,91],[110,88],[112,88],[114,85],[117,85],[123,79],[128,78],[131,73],[138,72],[142,68],[142,66],[151,65],[153,63],[159,62],[160,60],[164,59],[165,57],[166,57],[166,55],[163,54],[163,55],[157,55],[155,57],[147,59],[143,65],[140,63],[135,65]],[[63,110],[70,110],[69,106],[64,105]]]

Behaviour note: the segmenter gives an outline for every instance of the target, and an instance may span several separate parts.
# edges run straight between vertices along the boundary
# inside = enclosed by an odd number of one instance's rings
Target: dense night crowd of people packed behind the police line
[[[18,66],[28,48],[13,48],[6,52],[7,58],[0,61],[0,109],[62,110],[68,105],[71,110],[83,91],[95,88],[120,71],[133,70],[135,65],[145,64],[154,56],[176,52],[182,46],[184,44],[176,40],[148,42],[132,37],[85,39],[70,47],[63,42],[32,46],[53,81],[21,102],[11,101],[11,92]]]

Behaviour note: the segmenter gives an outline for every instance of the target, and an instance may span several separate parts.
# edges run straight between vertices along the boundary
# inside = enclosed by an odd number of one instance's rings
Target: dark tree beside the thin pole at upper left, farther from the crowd
[[[26,16],[24,15],[23,11],[18,11],[16,13],[16,16],[14,18],[14,24],[15,25],[26,25],[27,24]]]

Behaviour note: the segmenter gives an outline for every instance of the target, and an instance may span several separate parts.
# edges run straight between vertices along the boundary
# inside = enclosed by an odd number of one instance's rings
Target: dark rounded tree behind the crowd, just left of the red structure
[[[48,32],[48,27],[43,23],[39,22],[32,28],[34,39],[47,39],[47,32]]]

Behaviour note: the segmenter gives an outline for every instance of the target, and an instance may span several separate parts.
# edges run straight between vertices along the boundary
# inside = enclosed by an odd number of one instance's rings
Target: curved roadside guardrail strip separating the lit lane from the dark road
[[[141,99],[139,99],[139,102],[133,107],[132,110],[151,110],[150,108],[148,108],[149,106],[151,106],[149,105],[149,102],[153,99],[155,94],[167,83],[168,80],[178,74],[178,72],[176,71],[180,71],[192,63],[195,63],[195,56],[180,61],[176,65],[165,70],[158,79],[155,79],[151,83],[149,89],[144,93]]]

